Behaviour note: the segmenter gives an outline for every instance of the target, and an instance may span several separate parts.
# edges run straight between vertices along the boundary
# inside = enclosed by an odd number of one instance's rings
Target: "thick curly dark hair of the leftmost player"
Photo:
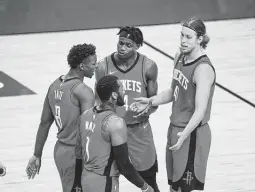
[[[74,45],[67,56],[68,65],[71,68],[76,68],[84,59],[90,55],[96,54],[96,47],[93,44],[78,44]]]

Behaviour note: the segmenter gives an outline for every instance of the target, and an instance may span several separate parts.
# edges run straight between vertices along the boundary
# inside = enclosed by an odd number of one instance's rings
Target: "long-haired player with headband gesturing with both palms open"
[[[168,183],[173,191],[204,189],[211,145],[208,121],[216,80],[214,67],[204,52],[208,42],[203,21],[192,18],[184,22],[171,87],[150,99],[137,98],[139,105],[131,105],[142,115],[142,103],[149,103],[146,112],[150,106],[173,102],[166,148]]]

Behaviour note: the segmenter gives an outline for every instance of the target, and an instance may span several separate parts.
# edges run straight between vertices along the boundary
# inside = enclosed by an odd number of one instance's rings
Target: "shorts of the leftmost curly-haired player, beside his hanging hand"
[[[56,142],[54,160],[57,166],[63,192],[82,192],[82,160],[75,157],[75,146]]]

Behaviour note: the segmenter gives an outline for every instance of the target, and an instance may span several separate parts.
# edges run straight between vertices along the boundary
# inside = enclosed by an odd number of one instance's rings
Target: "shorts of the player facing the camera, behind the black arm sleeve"
[[[127,125],[128,152],[137,171],[150,169],[156,162],[156,148],[149,121]]]

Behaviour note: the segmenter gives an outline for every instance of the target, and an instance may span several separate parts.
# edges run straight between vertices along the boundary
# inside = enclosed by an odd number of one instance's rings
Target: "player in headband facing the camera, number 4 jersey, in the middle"
[[[118,35],[117,52],[99,62],[96,80],[113,74],[122,82],[125,104],[117,107],[116,110],[117,115],[124,118],[127,123],[130,159],[142,178],[158,192],[157,156],[149,123],[149,115],[155,112],[157,107],[150,108],[147,114],[139,118],[136,118],[137,113],[129,108],[134,102],[133,98],[152,97],[157,94],[158,68],[154,61],[137,51],[143,45],[143,33],[139,28],[123,27]]]

